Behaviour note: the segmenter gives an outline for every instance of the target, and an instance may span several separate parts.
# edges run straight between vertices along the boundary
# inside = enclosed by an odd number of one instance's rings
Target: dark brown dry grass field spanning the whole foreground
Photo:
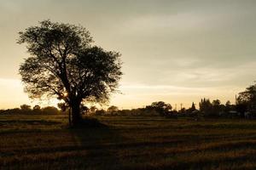
[[[0,169],[255,169],[256,121],[0,116]]]

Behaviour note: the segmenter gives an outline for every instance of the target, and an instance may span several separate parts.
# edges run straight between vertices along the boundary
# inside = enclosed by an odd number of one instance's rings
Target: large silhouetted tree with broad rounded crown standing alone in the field
[[[90,32],[44,20],[20,32],[30,57],[20,65],[26,93],[32,99],[57,97],[71,108],[73,125],[81,122],[83,102],[106,102],[116,91],[120,54],[92,45]]]

